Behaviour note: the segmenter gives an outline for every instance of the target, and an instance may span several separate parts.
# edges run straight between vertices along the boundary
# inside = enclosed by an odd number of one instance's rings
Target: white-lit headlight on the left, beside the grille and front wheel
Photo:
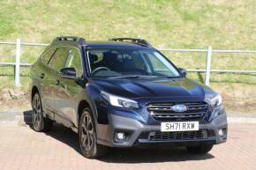
[[[109,104],[111,104],[114,107],[139,108],[138,102],[134,100],[118,97],[108,92],[101,92],[101,94],[102,98],[108,100]]]

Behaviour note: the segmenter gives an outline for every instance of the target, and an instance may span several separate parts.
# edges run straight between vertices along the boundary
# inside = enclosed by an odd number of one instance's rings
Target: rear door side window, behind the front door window
[[[55,54],[49,62],[49,66],[54,70],[61,70],[64,68],[68,48],[57,48]]]

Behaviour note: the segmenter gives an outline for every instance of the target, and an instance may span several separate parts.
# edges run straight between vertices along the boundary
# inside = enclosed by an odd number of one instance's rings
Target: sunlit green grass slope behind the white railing
[[[255,49],[255,0],[0,0],[0,41],[50,42],[58,35],[91,41],[141,37],[157,48]],[[22,63],[43,48],[23,47]],[[165,53],[179,67],[204,69],[206,54]],[[15,47],[0,46],[0,62],[14,62]],[[214,54],[212,69],[256,70],[256,55]],[[0,75],[13,75],[0,68]],[[22,69],[23,75],[28,70]],[[189,74],[202,80],[204,75]],[[13,84],[12,78],[8,78]],[[256,77],[211,75],[214,83],[256,85]],[[24,82],[26,85],[26,81]],[[3,84],[3,85],[2,85]],[[3,83],[0,85],[9,85]]]

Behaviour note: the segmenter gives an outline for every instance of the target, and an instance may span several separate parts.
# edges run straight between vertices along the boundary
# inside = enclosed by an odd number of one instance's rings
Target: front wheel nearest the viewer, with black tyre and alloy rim
[[[100,158],[108,152],[107,146],[97,144],[94,117],[88,108],[84,109],[79,119],[79,146],[87,159]]]

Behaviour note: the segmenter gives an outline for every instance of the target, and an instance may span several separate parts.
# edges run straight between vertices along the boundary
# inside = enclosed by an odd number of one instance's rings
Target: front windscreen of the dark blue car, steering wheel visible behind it
[[[180,76],[167,59],[152,49],[89,49],[87,55],[92,77]]]

